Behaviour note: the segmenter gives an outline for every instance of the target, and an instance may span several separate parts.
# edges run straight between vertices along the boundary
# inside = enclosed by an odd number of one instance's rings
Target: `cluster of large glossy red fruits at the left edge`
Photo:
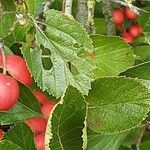
[[[11,75],[0,73],[0,112],[3,112],[10,110],[19,98],[17,81],[30,86],[33,80],[25,60],[20,56],[6,55],[3,63],[2,53],[0,53],[0,67],[6,69]]]

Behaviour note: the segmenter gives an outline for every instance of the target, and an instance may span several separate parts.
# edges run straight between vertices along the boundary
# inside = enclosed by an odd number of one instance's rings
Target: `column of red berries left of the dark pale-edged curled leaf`
[[[45,132],[47,126],[47,118],[52,111],[56,102],[49,101],[46,95],[40,91],[34,91],[33,94],[41,105],[41,112],[45,118],[35,117],[26,121],[26,124],[31,128],[34,133],[34,141],[37,150],[45,150]]]

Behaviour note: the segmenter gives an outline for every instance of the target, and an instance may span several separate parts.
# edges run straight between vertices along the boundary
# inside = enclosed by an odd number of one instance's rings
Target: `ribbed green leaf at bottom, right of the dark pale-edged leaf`
[[[118,150],[127,136],[127,133],[102,135],[88,131],[87,150]]]

